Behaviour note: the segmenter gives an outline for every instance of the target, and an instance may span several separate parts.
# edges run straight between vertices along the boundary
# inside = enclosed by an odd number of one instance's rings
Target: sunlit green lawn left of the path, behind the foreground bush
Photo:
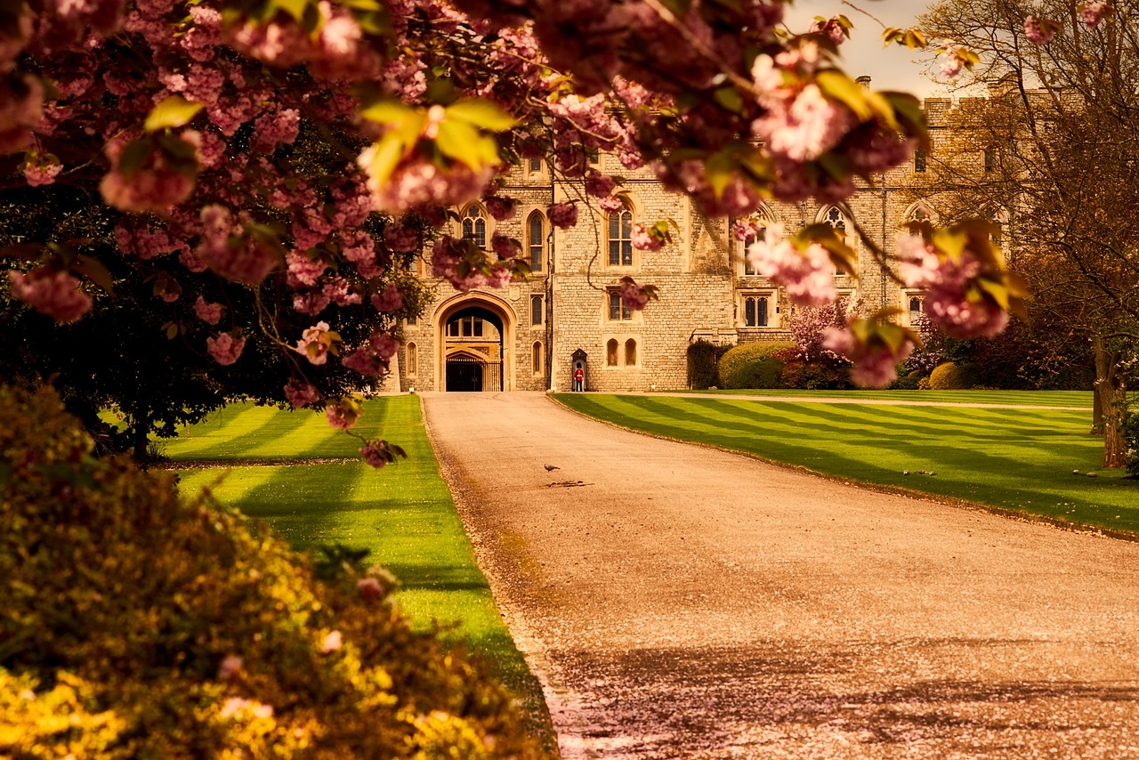
[[[502,623],[475,564],[450,491],[427,441],[417,397],[364,402],[354,428],[402,446],[408,458],[383,469],[359,459],[360,441],[323,416],[232,404],[164,444],[187,492],[204,485],[224,504],[265,521],[300,550],[344,544],[401,581],[396,602],[416,628],[489,661],[522,698],[534,729],[554,746],[541,687]],[[313,461],[316,460],[316,461]],[[206,465],[202,467],[202,465]],[[451,627],[453,626],[453,627]]]

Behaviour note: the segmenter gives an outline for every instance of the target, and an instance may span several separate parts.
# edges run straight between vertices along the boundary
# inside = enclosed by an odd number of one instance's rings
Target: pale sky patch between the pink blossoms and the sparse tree
[[[874,15],[883,25],[859,13],[842,0],[794,0],[784,13],[793,32],[805,32],[816,16],[829,18],[842,14],[854,24],[851,39],[843,43],[843,68],[851,76],[870,76],[875,90],[901,90],[918,97],[948,97],[948,90],[933,82],[921,64],[913,63],[918,52],[899,44],[883,49],[882,32],[888,26],[913,26],[926,10],[926,0],[851,0]],[[928,54],[926,54],[928,55]]]

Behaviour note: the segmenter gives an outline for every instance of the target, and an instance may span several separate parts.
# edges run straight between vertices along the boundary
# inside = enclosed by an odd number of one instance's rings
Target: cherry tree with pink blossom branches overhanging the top
[[[433,273],[459,289],[526,275],[508,240],[483,251],[409,221],[440,229],[474,198],[510,213],[501,177],[521,161],[548,158],[581,199],[614,209],[620,179],[588,161],[606,150],[626,169],[650,166],[705,214],[746,216],[762,198],[841,202],[857,179],[926,146],[912,96],[866,90],[842,71],[849,22],[793,34],[782,10],[780,0],[15,0],[0,11],[3,173],[17,193],[98,193],[122,214],[118,252],[144,276],[164,270],[199,322],[216,316],[207,284],[246,288],[248,319],[192,336],[194,350],[237,368],[256,333],[289,359],[280,393],[325,403],[350,427],[351,400],[309,373],[333,361],[384,370],[412,301],[396,276],[402,254],[432,250]],[[306,134],[327,172],[298,171]],[[577,205],[552,206],[551,223],[575,223]],[[797,284],[803,303],[833,301],[829,272],[851,267],[822,227],[749,254]],[[638,245],[666,234],[648,224]],[[997,329],[1023,295],[998,260],[968,247],[978,239],[927,231],[910,248],[916,280],[951,281],[942,321],[961,332]],[[58,321],[82,319],[114,278],[84,240],[49,243],[5,251],[11,294]],[[632,280],[623,291],[641,307],[654,295]],[[375,309],[378,326],[333,329],[334,313],[357,307]],[[880,368],[912,336],[876,316],[846,326],[839,344]]]

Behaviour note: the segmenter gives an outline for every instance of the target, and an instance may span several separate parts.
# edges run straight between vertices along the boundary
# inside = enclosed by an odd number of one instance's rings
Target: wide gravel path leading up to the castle
[[[424,407],[564,758],[1139,758],[1139,544]]]

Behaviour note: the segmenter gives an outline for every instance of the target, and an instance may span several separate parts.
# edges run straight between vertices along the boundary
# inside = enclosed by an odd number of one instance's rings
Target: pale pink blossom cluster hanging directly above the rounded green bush
[[[838,297],[835,265],[830,254],[818,243],[801,251],[782,237],[782,227],[771,224],[764,239],[747,248],[747,261],[760,275],[784,289],[794,303],[821,307]]]

